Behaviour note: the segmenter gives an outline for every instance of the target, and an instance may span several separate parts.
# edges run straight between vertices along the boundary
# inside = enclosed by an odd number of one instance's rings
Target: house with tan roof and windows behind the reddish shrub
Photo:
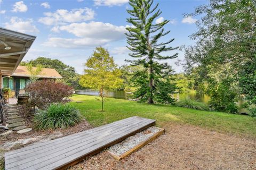
[[[35,67],[36,69],[36,67]],[[9,87],[12,91],[23,90],[30,82],[30,75],[26,66],[19,65],[10,76],[3,77],[3,88]],[[38,75],[39,79],[62,79],[55,69],[43,68]]]

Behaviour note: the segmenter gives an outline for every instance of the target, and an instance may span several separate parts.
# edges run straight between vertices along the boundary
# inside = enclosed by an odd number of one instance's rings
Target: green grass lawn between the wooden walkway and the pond
[[[101,103],[94,96],[74,95],[74,105],[89,123],[94,126],[111,123],[130,116],[153,118],[157,126],[178,122],[200,126],[223,133],[256,137],[256,118],[221,112],[196,111],[175,106],[141,104],[136,101],[108,98],[105,112],[100,112]]]

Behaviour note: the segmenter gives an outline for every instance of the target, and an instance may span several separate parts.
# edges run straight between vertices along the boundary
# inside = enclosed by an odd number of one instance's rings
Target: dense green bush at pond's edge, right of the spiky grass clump
[[[211,81],[207,89],[207,95],[211,97],[209,105],[215,111],[237,113],[238,94],[232,89],[233,80],[227,78],[221,82]]]

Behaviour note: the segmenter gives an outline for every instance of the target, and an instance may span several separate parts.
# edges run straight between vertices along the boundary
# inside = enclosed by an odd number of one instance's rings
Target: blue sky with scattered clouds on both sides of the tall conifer
[[[0,0],[0,27],[37,36],[33,46],[23,60],[38,56],[56,58],[74,66],[83,73],[83,64],[97,46],[106,47],[118,65],[128,64],[131,59],[125,47],[125,27],[128,0],[73,0],[73,1],[5,1]],[[195,7],[207,1],[168,1],[158,0],[163,12],[157,21],[170,20],[166,30],[171,30],[163,40],[175,38],[171,46],[193,44],[189,35],[197,30],[196,18],[183,18],[183,14],[194,12]],[[170,52],[172,54],[175,52]],[[182,67],[175,61],[167,61],[176,72]]]

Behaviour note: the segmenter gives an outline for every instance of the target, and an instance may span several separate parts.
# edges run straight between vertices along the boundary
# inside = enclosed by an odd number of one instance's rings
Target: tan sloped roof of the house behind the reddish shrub
[[[36,69],[36,67],[33,67]],[[26,66],[19,65],[12,76],[16,77],[29,77],[29,72]],[[39,78],[52,78],[52,79],[62,79],[61,75],[55,69],[42,68],[41,73],[37,76]]]

